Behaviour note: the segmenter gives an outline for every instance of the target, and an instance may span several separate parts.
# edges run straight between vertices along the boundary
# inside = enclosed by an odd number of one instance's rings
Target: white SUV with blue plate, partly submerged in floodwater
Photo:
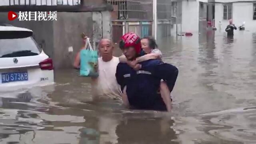
[[[0,91],[54,83],[52,59],[32,30],[0,24]]]

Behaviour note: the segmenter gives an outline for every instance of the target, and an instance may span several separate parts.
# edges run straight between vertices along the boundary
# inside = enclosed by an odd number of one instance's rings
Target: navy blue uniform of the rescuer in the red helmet
[[[126,63],[116,68],[116,80],[122,91],[126,86],[129,104],[136,109],[166,110],[159,93],[160,80],[166,81],[172,91],[178,76],[178,69],[160,60],[147,60],[140,63],[141,70],[135,71]]]

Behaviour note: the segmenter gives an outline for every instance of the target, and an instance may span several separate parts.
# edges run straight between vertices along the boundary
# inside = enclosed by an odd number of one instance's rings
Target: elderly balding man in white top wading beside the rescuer
[[[98,58],[98,78],[92,78],[92,94],[94,100],[112,98],[122,100],[122,92],[115,77],[116,66],[119,58],[113,56],[114,46],[109,39],[102,39],[99,42],[98,50],[100,58]],[[79,54],[78,54],[79,55]],[[77,62],[80,58],[76,58],[74,67],[79,68]]]

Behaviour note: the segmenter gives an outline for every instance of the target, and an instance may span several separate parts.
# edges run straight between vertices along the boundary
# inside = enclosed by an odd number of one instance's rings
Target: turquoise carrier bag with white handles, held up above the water
[[[85,47],[80,51],[80,76],[98,77],[98,51],[92,48],[89,38]]]

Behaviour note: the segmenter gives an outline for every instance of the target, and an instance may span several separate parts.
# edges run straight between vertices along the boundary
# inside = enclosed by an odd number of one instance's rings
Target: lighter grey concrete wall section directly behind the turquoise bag
[[[55,68],[69,68],[74,62],[76,53],[82,46],[81,33],[92,38],[91,12],[58,12],[58,20],[53,24],[54,34],[54,66]],[[72,47],[73,52],[68,48]]]

